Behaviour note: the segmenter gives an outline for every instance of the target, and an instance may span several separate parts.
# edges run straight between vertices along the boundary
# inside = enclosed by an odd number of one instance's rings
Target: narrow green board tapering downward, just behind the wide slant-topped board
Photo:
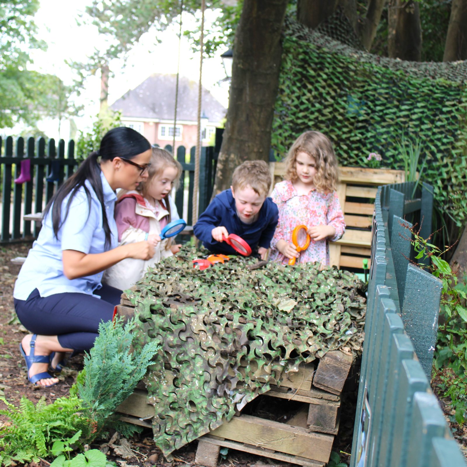
[[[403,302],[405,290],[405,278],[407,276],[407,265],[410,260],[410,240],[413,235],[409,228],[412,227],[410,222],[394,216],[392,221],[391,233],[391,252],[392,261],[394,262],[394,271],[396,273],[397,292],[399,294],[399,303]]]

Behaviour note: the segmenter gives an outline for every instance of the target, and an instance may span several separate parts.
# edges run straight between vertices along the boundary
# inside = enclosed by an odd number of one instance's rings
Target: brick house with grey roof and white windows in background
[[[151,144],[172,144],[177,75],[153,74],[126,92],[110,108],[120,110],[122,124],[143,134]],[[198,82],[180,77],[178,81],[177,126],[175,145],[187,149],[196,145]],[[202,145],[207,146],[220,126],[227,109],[202,88]]]

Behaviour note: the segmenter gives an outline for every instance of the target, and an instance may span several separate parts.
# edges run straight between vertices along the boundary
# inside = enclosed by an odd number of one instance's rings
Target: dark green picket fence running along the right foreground
[[[431,231],[432,187],[378,188],[351,467],[466,466],[430,389],[441,282],[409,259]],[[418,227],[417,227],[418,228]]]

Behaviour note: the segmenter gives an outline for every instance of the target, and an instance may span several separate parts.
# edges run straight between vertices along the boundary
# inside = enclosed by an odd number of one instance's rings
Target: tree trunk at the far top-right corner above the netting
[[[467,60],[467,0],[453,0],[443,62]]]

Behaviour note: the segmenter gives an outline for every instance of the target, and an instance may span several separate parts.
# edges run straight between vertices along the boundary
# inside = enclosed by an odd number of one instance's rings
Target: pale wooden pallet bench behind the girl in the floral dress
[[[283,180],[285,164],[272,162],[270,171],[274,175],[275,185]],[[377,187],[403,183],[405,172],[362,167],[339,167],[339,172],[337,194],[344,212],[346,232],[340,240],[330,242],[330,262],[338,268],[362,269],[365,258],[370,266],[371,224]]]

